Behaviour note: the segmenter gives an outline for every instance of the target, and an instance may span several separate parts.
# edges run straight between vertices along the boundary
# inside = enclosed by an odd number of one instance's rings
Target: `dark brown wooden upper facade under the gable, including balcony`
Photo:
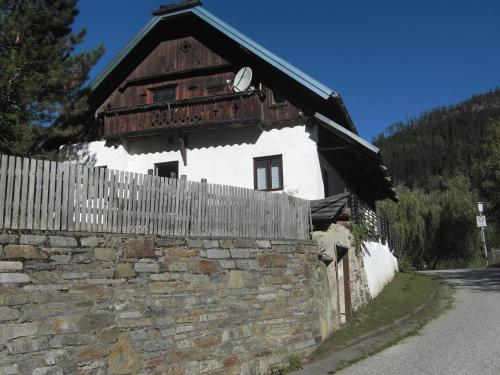
[[[104,137],[283,123],[303,117],[297,106],[281,93],[273,94],[258,75],[247,91],[231,90],[239,68],[192,36],[160,42],[98,109]],[[167,87],[175,88],[175,99],[154,103],[154,90]]]

